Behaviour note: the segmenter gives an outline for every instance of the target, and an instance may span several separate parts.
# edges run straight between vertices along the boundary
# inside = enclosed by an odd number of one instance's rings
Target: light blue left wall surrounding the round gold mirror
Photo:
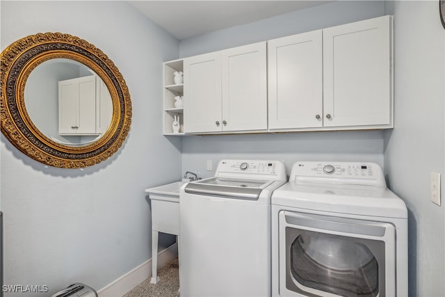
[[[44,166],[1,135],[4,283],[49,286],[47,294],[13,296],[49,296],[73,282],[102,289],[147,261],[144,190],[181,177],[181,139],[162,136],[160,87],[162,62],[179,56],[178,40],[124,1],[1,1],[1,50],[56,31],[111,58],[129,87],[133,118],[120,150],[84,170]]]

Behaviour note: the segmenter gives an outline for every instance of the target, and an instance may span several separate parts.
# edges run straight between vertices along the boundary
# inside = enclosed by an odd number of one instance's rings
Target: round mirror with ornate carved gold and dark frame
[[[1,53],[1,132],[41,163],[104,161],[131,124],[127,85],[106,54],[63,33],[38,33]]]

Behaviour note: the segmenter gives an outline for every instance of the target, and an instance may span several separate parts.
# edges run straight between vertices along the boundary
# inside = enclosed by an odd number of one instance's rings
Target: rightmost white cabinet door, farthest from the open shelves
[[[323,30],[325,127],[392,120],[392,17]]]

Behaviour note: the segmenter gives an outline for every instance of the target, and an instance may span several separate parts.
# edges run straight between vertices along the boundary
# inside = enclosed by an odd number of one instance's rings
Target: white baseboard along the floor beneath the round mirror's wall
[[[168,248],[161,250],[158,253],[158,267],[163,267],[171,262],[178,255],[177,243],[173,243]],[[99,297],[116,297],[124,296],[131,289],[138,284],[147,280],[152,276],[152,259],[148,259],[143,264],[133,268],[128,273],[125,273],[120,278],[106,285],[104,288],[97,291]]]

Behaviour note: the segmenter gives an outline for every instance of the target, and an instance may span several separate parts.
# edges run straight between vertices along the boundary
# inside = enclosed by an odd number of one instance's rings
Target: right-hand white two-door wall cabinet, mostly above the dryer
[[[269,129],[393,127],[392,17],[268,41]]]

